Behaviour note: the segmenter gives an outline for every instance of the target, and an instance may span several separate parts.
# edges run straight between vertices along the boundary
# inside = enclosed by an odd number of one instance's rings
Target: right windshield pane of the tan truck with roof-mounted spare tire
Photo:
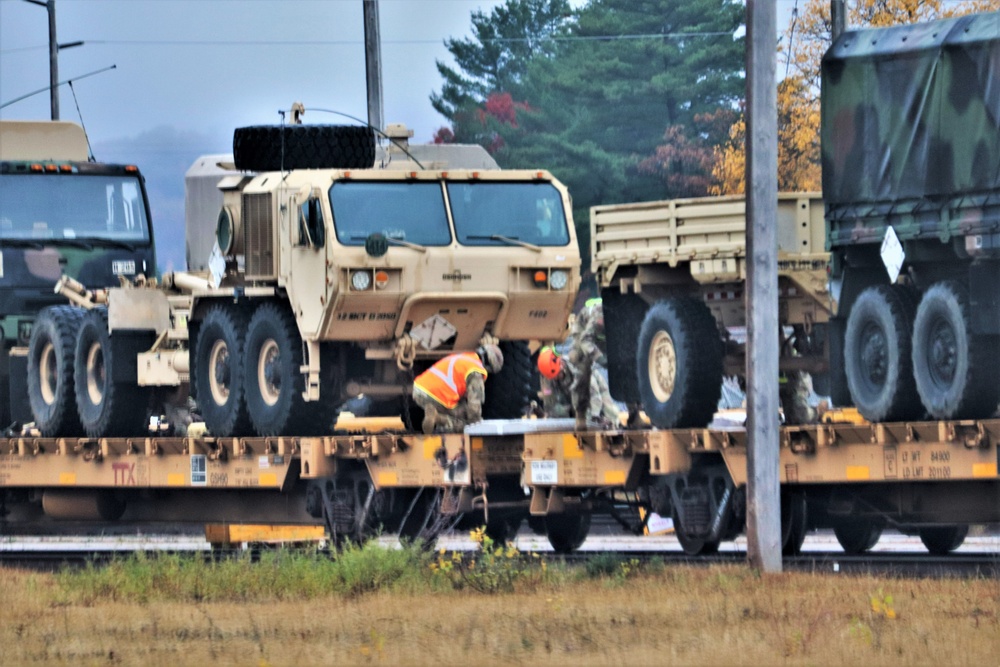
[[[569,243],[562,197],[551,183],[448,183],[455,233],[465,245],[507,245],[496,235],[538,246]]]

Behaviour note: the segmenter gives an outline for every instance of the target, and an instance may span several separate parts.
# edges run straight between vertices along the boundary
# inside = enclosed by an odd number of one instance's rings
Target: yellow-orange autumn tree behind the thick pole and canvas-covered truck
[[[847,23],[854,27],[884,27],[982,11],[995,11],[998,0],[968,0],[944,8],[941,0],[857,0]],[[785,79],[778,86],[778,189],[820,189],[820,61],[830,46],[829,0],[808,0],[801,16],[785,34]],[[743,192],[745,120],[730,128],[729,141],[716,151],[714,194]]]

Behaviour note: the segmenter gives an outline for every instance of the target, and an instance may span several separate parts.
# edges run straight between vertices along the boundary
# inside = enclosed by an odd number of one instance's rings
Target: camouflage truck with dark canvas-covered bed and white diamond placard
[[[1000,13],[842,35],[822,63],[834,399],[1000,402]]]

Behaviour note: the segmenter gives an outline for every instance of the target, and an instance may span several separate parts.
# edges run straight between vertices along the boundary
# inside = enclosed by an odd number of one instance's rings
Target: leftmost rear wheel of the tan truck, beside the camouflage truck
[[[53,306],[38,314],[28,341],[28,400],[42,436],[83,434],[73,391],[73,351],[83,310]]]

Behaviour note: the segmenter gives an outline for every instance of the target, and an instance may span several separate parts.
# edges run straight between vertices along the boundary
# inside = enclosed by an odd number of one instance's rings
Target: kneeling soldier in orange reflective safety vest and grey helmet
[[[496,345],[475,352],[450,354],[413,381],[413,402],[424,410],[423,432],[461,433],[466,424],[483,418],[488,373],[503,368]]]

